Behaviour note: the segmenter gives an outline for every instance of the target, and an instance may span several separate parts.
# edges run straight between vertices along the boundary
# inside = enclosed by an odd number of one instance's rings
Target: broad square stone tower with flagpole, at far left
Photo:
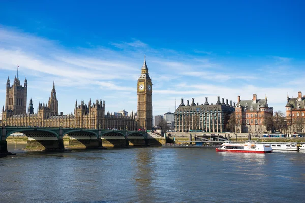
[[[24,86],[20,85],[20,80],[15,76],[14,83],[10,86],[8,78],[6,84],[5,110],[3,117],[8,115],[26,114],[27,80],[24,80]]]

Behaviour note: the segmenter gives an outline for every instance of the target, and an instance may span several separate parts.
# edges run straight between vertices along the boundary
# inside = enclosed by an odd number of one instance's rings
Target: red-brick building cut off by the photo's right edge
[[[286,119],[290,134],[305,132],[305,97],[298,92],[297,98],[289,98],[287,95]]]

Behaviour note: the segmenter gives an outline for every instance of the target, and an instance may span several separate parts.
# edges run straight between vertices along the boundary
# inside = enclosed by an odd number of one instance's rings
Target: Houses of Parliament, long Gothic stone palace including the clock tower
[[[137,83],[138,111],[121,111],[105,114],[105,101],[90,99],[88,104],[81,101],[75,102],[74,114],[64,115],[58,113],[58,100],[56,96],[55,83],[51,90],[51,96],[47,103],[39,103],[37,113],[34,113],[32,99],[27,99],[27,79],[24,85],[20,84],[19,78],[15,76],[14,83],[10,85],[10,79],[6,83],[6,102],[2,108],[3,126],[36,126],[36,127],[64,127],[64,128],[89,128],[89,129],[118,129],[138,130],[153,127],[153,82],[148,74],[146,59],[141,69],[141,76]],[[27,109],[27,112],[26,112]]]

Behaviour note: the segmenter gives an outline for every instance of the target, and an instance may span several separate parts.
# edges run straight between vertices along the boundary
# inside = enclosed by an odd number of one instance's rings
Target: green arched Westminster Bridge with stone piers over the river
[[[27,150],[63,151],[64,142],[69,148],[105,148],[127,146],[160,146],[162,138],[154,138],[145,131],[104,130],[87,128],[56,127],[1,127],[0,153],[6,153],[6,139],[14,133],[23,133],[28,137]],[[69,139],[63,139],[67,135]],[[66,143],[67,146],[67,143]]]

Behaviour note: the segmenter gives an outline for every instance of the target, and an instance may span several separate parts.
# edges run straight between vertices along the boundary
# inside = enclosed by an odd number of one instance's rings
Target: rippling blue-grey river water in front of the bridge
[[[302,152],[8,148],[17,155],[0,158],[0,202],[305,202]]]

